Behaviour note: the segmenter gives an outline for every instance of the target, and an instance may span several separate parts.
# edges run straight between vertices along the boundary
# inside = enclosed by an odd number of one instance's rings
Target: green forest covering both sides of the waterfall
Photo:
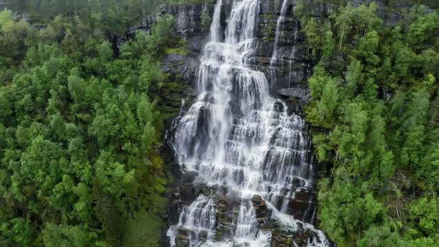
[[[439,3],[392,26],[373,2],[319,1],[336,6],[328,18],[305,0],[293,10],[315,61],[306,120],[331,167],[317,226],[340,247],[438,246]],[[161,242],[172,84],[160,62],[180,45],[175,19],[112,40],[161,3],[20,0],[10,6],[25,18],[0,12],[0,246]]]

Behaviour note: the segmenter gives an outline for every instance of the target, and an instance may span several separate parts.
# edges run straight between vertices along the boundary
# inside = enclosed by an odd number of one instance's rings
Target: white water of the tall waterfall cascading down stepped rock
[[[178,162],[198,174],[194,183],[221,187],[217,193],[222,196],[240,198],[233,227],[226,237],[217,237],[217,200],[200,194],[169,228],[171,246],[178,245],[182,229],[189,242],[180,246],[270,246],[271,233],[261,230],[252,197],[265,200],[272,220],[294,227],[298,221],[286,214],[289,202],[296,191],[313,185],[305,121],[287,114],[287,106],[270,96],[265,74],[248,63],[257,49],[259,5],[260,0],[233,1],[223,32],[222,0],[217,1],[211,40],[201,58],[198,97],[180,117],[174,136]],[[324,236],[309,241],[309,246],[326,245]]]

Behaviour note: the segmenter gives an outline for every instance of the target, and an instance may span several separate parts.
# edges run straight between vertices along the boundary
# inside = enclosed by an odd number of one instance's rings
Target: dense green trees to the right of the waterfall
[[[439,246],[439,14],[388,27],[375,3],[337,2],[327,19],[296,7],[318,61],[307,119],[333,167],[319,226],[339,246]]]

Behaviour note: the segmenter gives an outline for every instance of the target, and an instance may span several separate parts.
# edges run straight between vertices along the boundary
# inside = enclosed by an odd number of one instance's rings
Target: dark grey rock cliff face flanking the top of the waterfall
[[[224,29],[226,19],[230,13],[232,0],[223,1],[221,19]],[[258,23],[258,37],[256,56],[252,64],[258,70],[263,71],[272,80],[271,89],[273,93],[284,96],[293,96],[292,108],[302,109],[307,104],[307,78],[311,75],[312,61],[307,58],[305,47],[305,34],[300,30],[300,23],[293,14],[296,1],[289,1],[285,14],[285,23],[281,26],[281,35],[275,44],[276,22],[280,16],[282,0],[263,0]],[[156,16],[171,14],[176,19],[176,32],[185,40],[187,56],[169,54],[163,58],[163,69],[169,74],[178,74],[182,79],[193,84],[195,75],[198,74],[199,56],[209,38],[209,28],[202,28],[202,12],[207,11],[213,15],[212,4],[187,4],[187,5],[164,5],[155,16],[148,16],[138,25],[134,25],[130,32],[149,32]],[[309,0],[313,16],[324,17],[329,14],[328,5],[317,1]],[[272,61],[274,47],[277,46],[277,57]],[[270,75],[270,76],[269,76]]]

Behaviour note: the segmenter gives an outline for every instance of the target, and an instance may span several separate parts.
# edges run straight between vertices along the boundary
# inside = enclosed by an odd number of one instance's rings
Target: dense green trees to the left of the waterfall
[[[158,60],[178,40],[165,16],[114,49],[124,2],[31,16],[42,29],[0,13],[0,246],[158,245],[169,180]]]

